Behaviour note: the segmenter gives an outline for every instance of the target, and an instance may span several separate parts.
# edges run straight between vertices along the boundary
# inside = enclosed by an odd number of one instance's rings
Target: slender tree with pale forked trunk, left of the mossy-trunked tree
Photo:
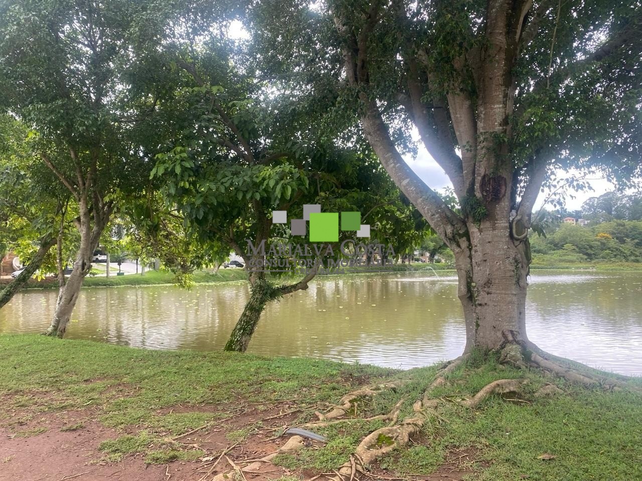
[[[71,195],[80,244],[48,335],[67,328],[100,237],[119,199],[148,175],[145,123],[153,97],[126,95],[144,55],[144,12],[120,1],[3,4],[0,108],[32,126],[33,151]],[[137,23],[141,22],[141,23]],[[142,171],[141,171],[142,169]]]

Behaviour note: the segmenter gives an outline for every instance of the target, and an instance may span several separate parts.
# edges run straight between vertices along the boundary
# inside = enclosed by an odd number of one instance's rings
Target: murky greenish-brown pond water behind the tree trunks
[[[155,349],[223,347],[246,283],[83,289],[67,336]],[[0,332],[42,332],[56,291],[21,292],[0,310]],[[642,274],[534,274],[528,336],[545,350],[642,375]],[[266,308],[250,352],[425,366],[459,355],[464,324],[456,278],[431,273],[320,278]]]

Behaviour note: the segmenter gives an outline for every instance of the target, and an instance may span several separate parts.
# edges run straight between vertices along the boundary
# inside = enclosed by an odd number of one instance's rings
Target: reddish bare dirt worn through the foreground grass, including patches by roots
[[[256,416],[243,416],[238,426],[252,422]],[[73,431],[61,431],[71,421],[83,421],[84,427]],[[49,430],[41,434],[19,437],[15,431],[0,428],[0,480],[2,481],[210,481],[215,475],[230,470],[227,461],[219,462],[216,453],[234,446],[221,429],[202,430],[194,436],[185,437],[182,443],[192,444],[205,450],[202,460],[195,462],[173,461],[167,464],[146,464],[142,454],[128,455],[119,462],[105,462],[104,453],[98,450],[102,441],[116,439],[123,433],[102,426],[97,421],[85,418],[67,418],[65,421],[42,419]],[[250,439],[232,447],[227,456],[232,462],[256,459],[276,451],[286,438],[273,437],[273,425],[266,423],[266,429]],[[470,460],[471,453],[451,453],[444,465],[431,476],[422,476],[426,481],[460,481],[471,471],[461,464]],[[303,469],[292,472],[280,466],[265,464],[261,471],[245,473],[248,481],[268,481],[282,477],[310,478],[318,471]],[[403,479],[394,473],[375,469],[374,478]],[[417,477],[408,477],[408,479]]]

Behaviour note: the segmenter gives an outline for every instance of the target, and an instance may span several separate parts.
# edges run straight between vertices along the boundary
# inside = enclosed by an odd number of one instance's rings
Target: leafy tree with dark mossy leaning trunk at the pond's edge
[[[186,8],[184,15],[193,13]],[[216,12],[209,15],[221,21]],[[159,61],[173,66],[169,83],[176,90],[171,101],[159,103],[158,124],[182,131],[173,148],[157,155],[152,180],[166,182],[166,209],[176,208],[197,239],[227,246],[219,260],[230,252],[243,258],[251,294],[225,350],[245,351],[265,305],[308,289],[318,269],[315,262],[294,282],[272,281],[258,267],[265,255],[248,249],[247,240],[254,246],[288,241],[290,219],[302,218],[306,203],[368,212],[380,202],[377,196],[385,205],[386,195],[398,198],[398,191],[372,163],[369,149],[320,140],[320,118],[310,117],[311,106],[293,108],[287,99],[272,98],[257,65],[211,24],[195,22],[188,38],[171,26],[168,31],[171,42]],[[272,226],[273,210],[288,211],[285,228]]]

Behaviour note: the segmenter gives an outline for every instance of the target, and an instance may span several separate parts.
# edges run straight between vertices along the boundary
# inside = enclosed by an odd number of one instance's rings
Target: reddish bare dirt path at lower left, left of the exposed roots
[[[14,413],[15,414],[15,413]],[[248,439],[232,443],[227,434],[235,429],[254,425],[256,421],[280,414],[277,410],[257,412],[235,418],[232,423],[209,426],[193,435],[180,437],[181,448],[205,451],[202,460],[187,462],[175,460],[167,464],[146,464],[144,455],[126,455],[118,462],[104,460],[100,443],[116,439],[117,432],[92,419],[93,412],[72,411],[35,416],[28,421],[16,421],[11,427],[0,428],[0,480],[4,481],[66,481],[66,480],[139,480],[139,481],[206,481],[228,471],[224,459],[214,466],[214,460],[223,450],[232,460],[254,459],[276,451],[286,438],[270,439],[275,430],[294,419],[294,414],[265,421],[265,428],[254,432]],[[19,414],[13,416],[21,418]],[[81,424],[75,430],[61,430],[65,426]],[[38,433],[38,430],[45,432]],[[130,434],[136,434],[131,432]],[[235,445],[236,444],[236,445]],[[291,475],[288,469],[265,466],[265,473],[248,473],[256,481],[278,479]]]

